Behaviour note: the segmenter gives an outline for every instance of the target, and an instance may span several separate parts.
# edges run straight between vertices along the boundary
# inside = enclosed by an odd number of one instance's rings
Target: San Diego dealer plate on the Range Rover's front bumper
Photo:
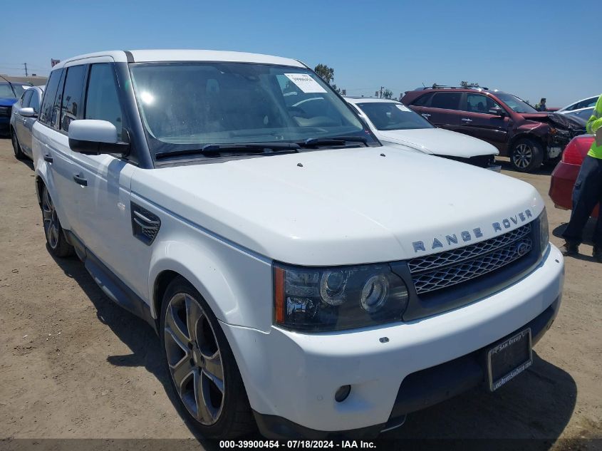
[[[495,391],[533,363],[531,328],[502,341],[487,353],[489,390]]]

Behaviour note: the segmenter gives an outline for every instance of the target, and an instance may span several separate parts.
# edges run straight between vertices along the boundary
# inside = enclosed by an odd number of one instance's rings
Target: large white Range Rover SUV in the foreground
[[[534,187],[380,145],[294,59],[61,61],[33,159],[49,249],[155,328],[204,437],[375,437],[529,368],[561,304]]]

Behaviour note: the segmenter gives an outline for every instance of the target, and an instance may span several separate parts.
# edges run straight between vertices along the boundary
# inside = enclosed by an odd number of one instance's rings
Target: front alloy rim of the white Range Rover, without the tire
[[[165,312],[165,353],[177,393],[190,415],[213,425],[224,407],[224,368],[215,332],[199,302],[178,293]]]

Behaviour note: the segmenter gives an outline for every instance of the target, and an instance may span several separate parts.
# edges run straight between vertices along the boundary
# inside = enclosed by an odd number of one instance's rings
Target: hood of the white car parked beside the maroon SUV
[[[383,142],[407,145],[434,155],[470,158],[499,154],[497,148],[489,142],[443,128],[378,130],[377,135]]]

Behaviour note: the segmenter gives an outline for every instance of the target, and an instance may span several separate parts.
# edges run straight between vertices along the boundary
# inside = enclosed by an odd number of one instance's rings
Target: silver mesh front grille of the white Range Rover
[[[474,279],[531,252],[531,224],[483,242],[408,262],[417,294]]]

